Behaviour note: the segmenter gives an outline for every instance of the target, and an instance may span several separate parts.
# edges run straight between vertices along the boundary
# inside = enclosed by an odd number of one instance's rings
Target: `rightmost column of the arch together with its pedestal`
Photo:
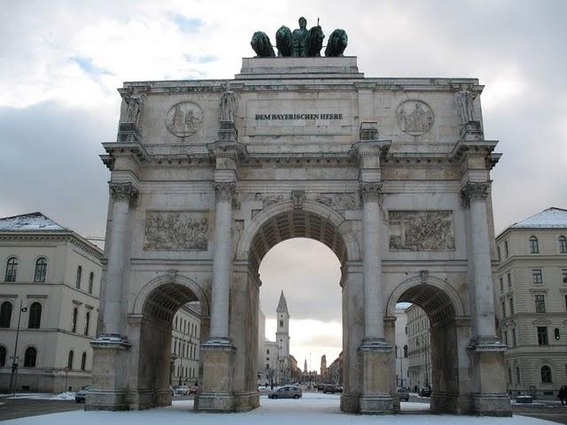
[[[511,416],[506,393],[504,344],[495,328],[493,274],[490,258],[486,198],[490,184],[467,182],[461,191],[462,203],[469,208],[469,276],[472,340],[469,347],[472,413]]]

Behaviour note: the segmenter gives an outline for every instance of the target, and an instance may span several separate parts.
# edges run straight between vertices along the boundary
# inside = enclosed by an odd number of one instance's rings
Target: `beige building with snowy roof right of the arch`
[[[509,393],[556,398],[567,384],[567,210],[537,213],[496,243],[494,294]]]

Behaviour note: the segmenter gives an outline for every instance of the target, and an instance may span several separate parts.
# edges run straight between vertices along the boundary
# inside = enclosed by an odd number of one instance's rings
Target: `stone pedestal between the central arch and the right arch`
[[[390,394],[392,347],[384,341],[366,341],[359,352],[362,366],[360,412],[393,413],[393,399]]]

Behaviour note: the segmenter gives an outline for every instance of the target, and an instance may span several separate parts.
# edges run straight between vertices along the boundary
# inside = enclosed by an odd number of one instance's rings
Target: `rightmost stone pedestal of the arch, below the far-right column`
[[[504,351],[499,342],[471,346],[472,392],[471,413],[486,416],[511,416],[512,408],[506,393]]]

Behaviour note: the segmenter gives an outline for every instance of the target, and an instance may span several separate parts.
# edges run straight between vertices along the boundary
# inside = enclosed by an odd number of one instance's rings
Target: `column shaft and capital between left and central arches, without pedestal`
[[[232,197],[235,182],[214,183],[214,258],[209,342],[229,344]]]

